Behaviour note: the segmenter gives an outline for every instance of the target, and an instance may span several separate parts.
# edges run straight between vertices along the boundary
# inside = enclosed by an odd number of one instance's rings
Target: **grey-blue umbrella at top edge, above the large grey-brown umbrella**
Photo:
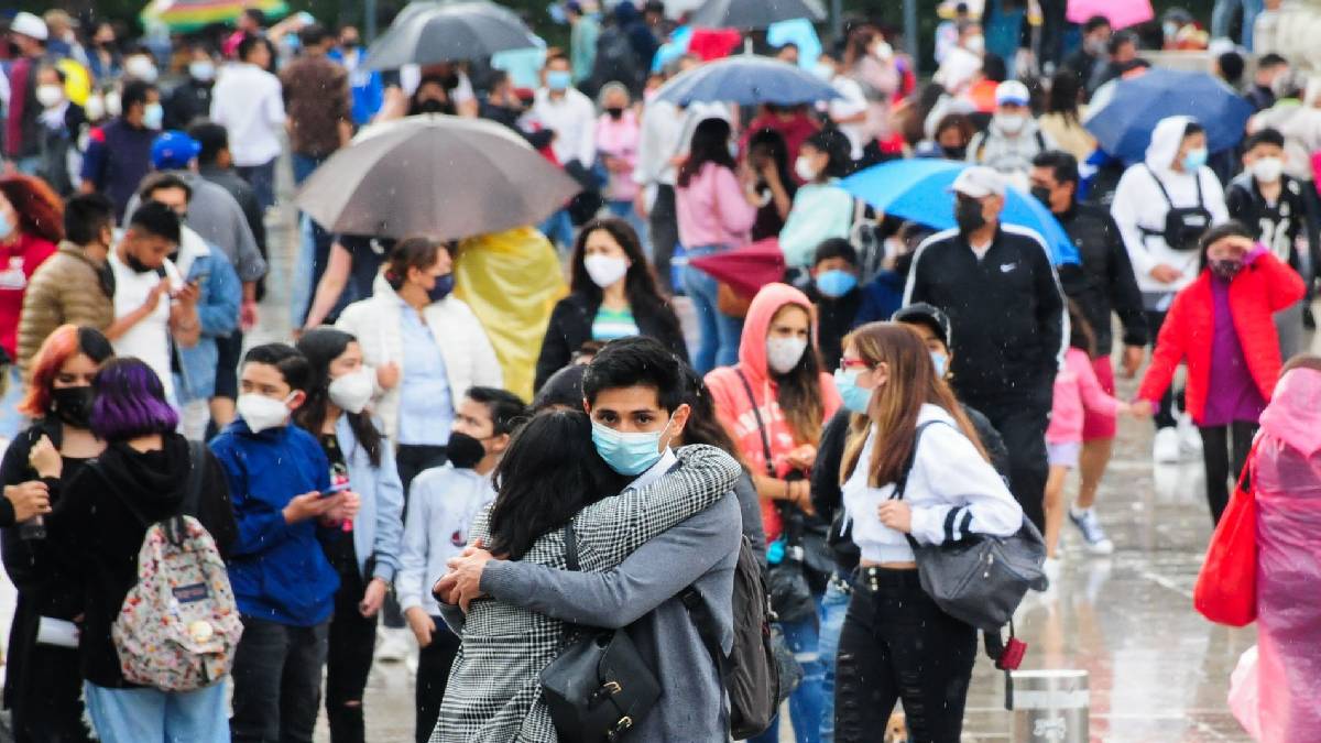
[[[485,59],[497,52],[540,46],[510,9],[494,3],[411,3],[373,42],[365,65],[392,70],[454,59]]]

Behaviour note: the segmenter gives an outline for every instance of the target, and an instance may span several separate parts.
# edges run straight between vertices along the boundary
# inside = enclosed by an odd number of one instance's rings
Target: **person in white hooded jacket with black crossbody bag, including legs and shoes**
[[[1152,130],[1145,161],[1124,171],[1115,189],[1110,214],[1133,263],[1152,342],[1174,295],[1197,278],[1198,238],[1211,225],[1229,219],[1225,189],[1206,160],[1202,126],[1188,116],[1170,116]],[[1180,434],[1169,393],[1153,419],[1157,432],[1152,456],[1178,461]],[[1196,432],[1188,434],[1185,443],[1193,447]]]

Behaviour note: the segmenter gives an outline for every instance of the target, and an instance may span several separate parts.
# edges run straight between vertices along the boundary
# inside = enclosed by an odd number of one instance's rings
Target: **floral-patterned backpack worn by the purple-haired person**
[[[215,539],[198,512],[206,448],[189,442],[192,471],[180,516],[147,525],[137,553],[137,583],[110,628],[120,672],[131,684],[193,691],[223,680],[234,664],[243,624]]]

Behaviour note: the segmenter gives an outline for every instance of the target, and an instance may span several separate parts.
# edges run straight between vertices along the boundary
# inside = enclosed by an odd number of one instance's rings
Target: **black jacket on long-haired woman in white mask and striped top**
[[[573,353],[592,340],[592,321],[596,320],[596,311],[600,307],[600,299],[579,292],[571,293],[555,305],[551,324],[546,328],[546,338],[542,341],[542,354],[536,360],[534,389],[542,389],[551,374],[568,366]],[[688,361],[688,346],[683,340],[679,319],[668,304],[658,308],[634,304],[631,309],[639,334],[660,341],[675,356]]]

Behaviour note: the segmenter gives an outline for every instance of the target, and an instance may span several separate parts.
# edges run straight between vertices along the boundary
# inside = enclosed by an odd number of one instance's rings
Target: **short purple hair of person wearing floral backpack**
[[[112,358],[92,381],[91,432],[106,442],[122,442],[178,427],[178,412],[165,402],[161,381],[144,361]]]

